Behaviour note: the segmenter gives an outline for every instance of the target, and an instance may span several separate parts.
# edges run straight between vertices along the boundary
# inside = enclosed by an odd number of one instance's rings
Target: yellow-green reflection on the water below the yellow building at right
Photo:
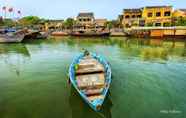
[[[140,57],[144,61],[167,61],[173,57],[185,57],[186,55],[186,41],[123,39],[119,40],[117,45],[125,56]]]

